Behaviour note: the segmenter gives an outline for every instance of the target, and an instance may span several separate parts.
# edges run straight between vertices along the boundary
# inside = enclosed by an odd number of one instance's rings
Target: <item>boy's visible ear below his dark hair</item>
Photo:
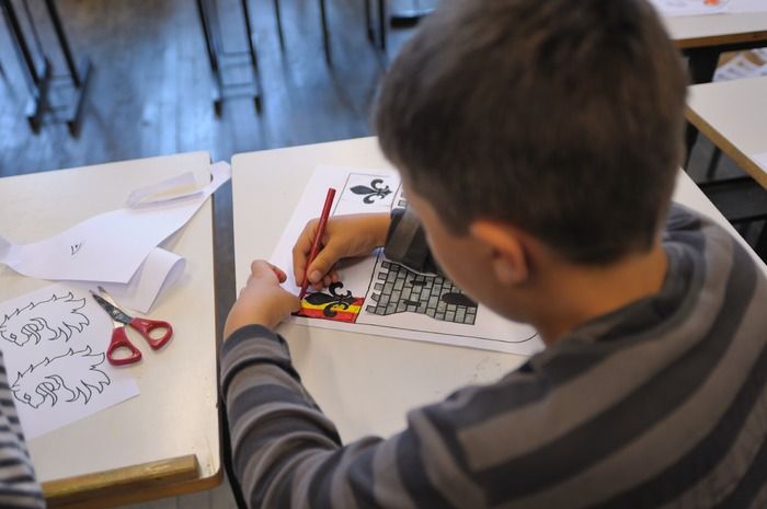
[[[469,225],[469,234],[490,250],[490,267],[500,282],[517,285],[528,279],[530,261],[519,230],[480,219]]]

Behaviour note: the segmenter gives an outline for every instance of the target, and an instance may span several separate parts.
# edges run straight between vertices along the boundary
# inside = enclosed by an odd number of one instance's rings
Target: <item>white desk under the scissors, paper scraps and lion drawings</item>
[[[196,152],[0,178],[0,232],[41,240],[122,207],[129,189],[208,164]],[[30,442],[50,507],[110,507],[221,482],[211,228],[208,201],[169,244],[186,271],[152,315],[172,322],[174,337],[129,368],[140,396]],[[0,266],[0,299],[45,285]]]

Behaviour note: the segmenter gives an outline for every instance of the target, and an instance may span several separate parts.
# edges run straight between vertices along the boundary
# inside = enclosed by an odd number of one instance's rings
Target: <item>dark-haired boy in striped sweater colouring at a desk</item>
[[[409,210],[334,218],[310,280],[382,243],[421,265],[426,239],[547,349],[411,412],[394,437],[342,446],[272,332],[298,301],[254,262],[221,359],[251,506],[767,507],[767,280],[671,206],[685,82],[643,0],[440,3],[376,112]]]

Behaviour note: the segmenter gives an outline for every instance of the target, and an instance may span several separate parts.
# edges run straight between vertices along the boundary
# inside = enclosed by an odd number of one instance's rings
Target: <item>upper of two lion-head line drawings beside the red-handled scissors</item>
[[[75,299],[72,292],[41,302],[31,302],[24,308],[7,314],[0,322],[0,337],[9,343],[24,346],[31,339],[37,345],[42,339],[55,340],[64,337],[68,342],[75,331],[81,333],[90,324],[81,310],[85,299]]]

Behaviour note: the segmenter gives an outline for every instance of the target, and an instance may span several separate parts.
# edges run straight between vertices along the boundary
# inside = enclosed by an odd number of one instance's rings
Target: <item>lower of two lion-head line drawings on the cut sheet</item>
[[[101,394],[104,386],[111,383],[110,378],[99,366],[104,362],[104,354],[92,354],[91,347],[45,358],[23,373],[11,385],[13,397],[20,403],[38,408],[46,400],[55,406],[60,397],[71,403],[80,398],[85,405],[91,401],[93,392]]]

